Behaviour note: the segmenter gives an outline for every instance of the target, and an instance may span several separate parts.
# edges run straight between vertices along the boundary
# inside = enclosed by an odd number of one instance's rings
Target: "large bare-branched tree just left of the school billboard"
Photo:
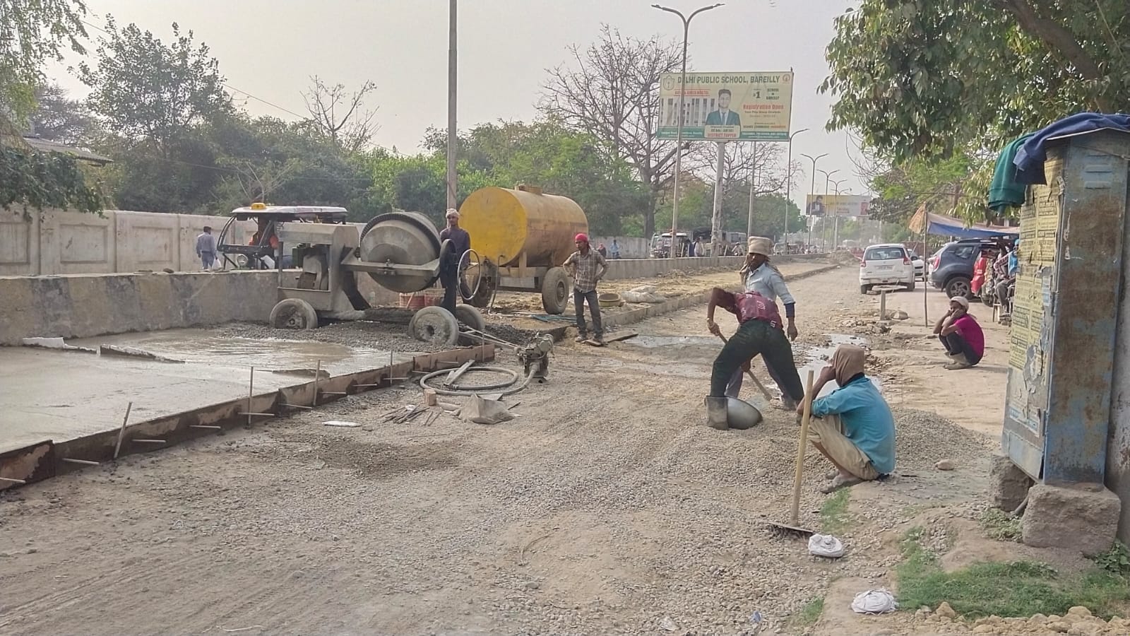
[[[585,49],[568,48],[568,65],[548,69],[538,108],[550,119],[606,143],[647,187],[644,234],[655,230],[655,206],[675,175],[676,145],[655,138],[659,76],[679,68],[681,44],[659,36],[638,40],[601,25]]]

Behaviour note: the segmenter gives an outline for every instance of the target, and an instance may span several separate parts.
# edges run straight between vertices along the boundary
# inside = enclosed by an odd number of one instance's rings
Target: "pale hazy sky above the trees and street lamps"
[[[565,48],[593,41],[601,23],[626,35],[681,38],[673,15],[646,0],[461,0],[459,5],[459,126],[529,120],[545,69],[566,61]],[[702,0],[667,0],[689,12]],[[698,71],[796,71],[792,129],[809,128],[793,141],[799,153],[829,153],[817,167],[840,170],[842,189],[863,194],[847,157],[847,137],[828,134],[831,100],[816,88],[827,75],[824,48],[833,19],[849,0],[731,0],[701,14],[690,27],[690,61]],[[775,5],[775,6],[774,6]],[[106,14],[137,23],[162,40],[169,24],[192,29],[211,48],[227,84],[296,113],[299,92],[318,75],[328,83],[359,86],[372,79],[381,129],[376,143],[415,151],[428,126],[446,122],[446,0],[87,0],[89,20]],[[92,37],[98,33],[88,29]],[[73,63],[73,60],[69,60]],[[73,96],[85,87],[66,65],[49,71]],[[238,93],[236,96],[240,97]],[[253,114],[294,115],[246,100]],[[852,148],[854,152],[854,148]],[[808,171],[801,190],[808,189]],[[818,175],[817,190],[824,189]],[[802,201],[800,192],[793,198]]]

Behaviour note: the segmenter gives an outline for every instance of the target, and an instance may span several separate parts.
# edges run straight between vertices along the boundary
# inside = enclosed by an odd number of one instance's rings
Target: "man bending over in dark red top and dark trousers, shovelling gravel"
[[[792,360],[792,346],[789,338],[782,330],[781,315],[776,304],[766,300],[757,292],[730,293],[725,290],[714,287],[711,291],[710,304],[706,307],[706,323],[711,326],[711,332],[720,333],[714,324],[714,308],[721,307],[738,316],[737,333],[730,337],[718,358],[714,359],[714,368],[710,378],[710,398],[725,399],[725,387],[733,373],[741,372],[744,363],[748,363],[758,353],[765,356],[766,366],[781,371],[781,392],[793,401],[800,401],[805,396],[805,387],[800,384],[800,376]],[[707,399],[707,404],[710,404]],[[724,409],[721,414],[716,410],[709,409],[709,416],[721,416],[721,422],[711,421],[711,426],[723,424]],[[718,426],[716,428],[725,428]]]

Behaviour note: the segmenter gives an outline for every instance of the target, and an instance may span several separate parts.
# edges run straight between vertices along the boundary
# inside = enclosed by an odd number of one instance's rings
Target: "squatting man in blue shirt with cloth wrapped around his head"
[[[836,469],[822,492],[895,470],[895,418],[878,387],[863,375],[866,358],[867,352],[855,345],[840,345],[812,386],[815,398],[824,385],[833,380],[840,385],[812,402],[808,440]],[[803,404],[797,407],[802,410]]]

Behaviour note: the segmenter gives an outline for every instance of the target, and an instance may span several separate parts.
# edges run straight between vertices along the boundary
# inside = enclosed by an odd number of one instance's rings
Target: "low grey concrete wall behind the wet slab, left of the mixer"
[[[261,323],[275,307],[277,286],[277,272],[0,277],[0,345],[33,336]]]

